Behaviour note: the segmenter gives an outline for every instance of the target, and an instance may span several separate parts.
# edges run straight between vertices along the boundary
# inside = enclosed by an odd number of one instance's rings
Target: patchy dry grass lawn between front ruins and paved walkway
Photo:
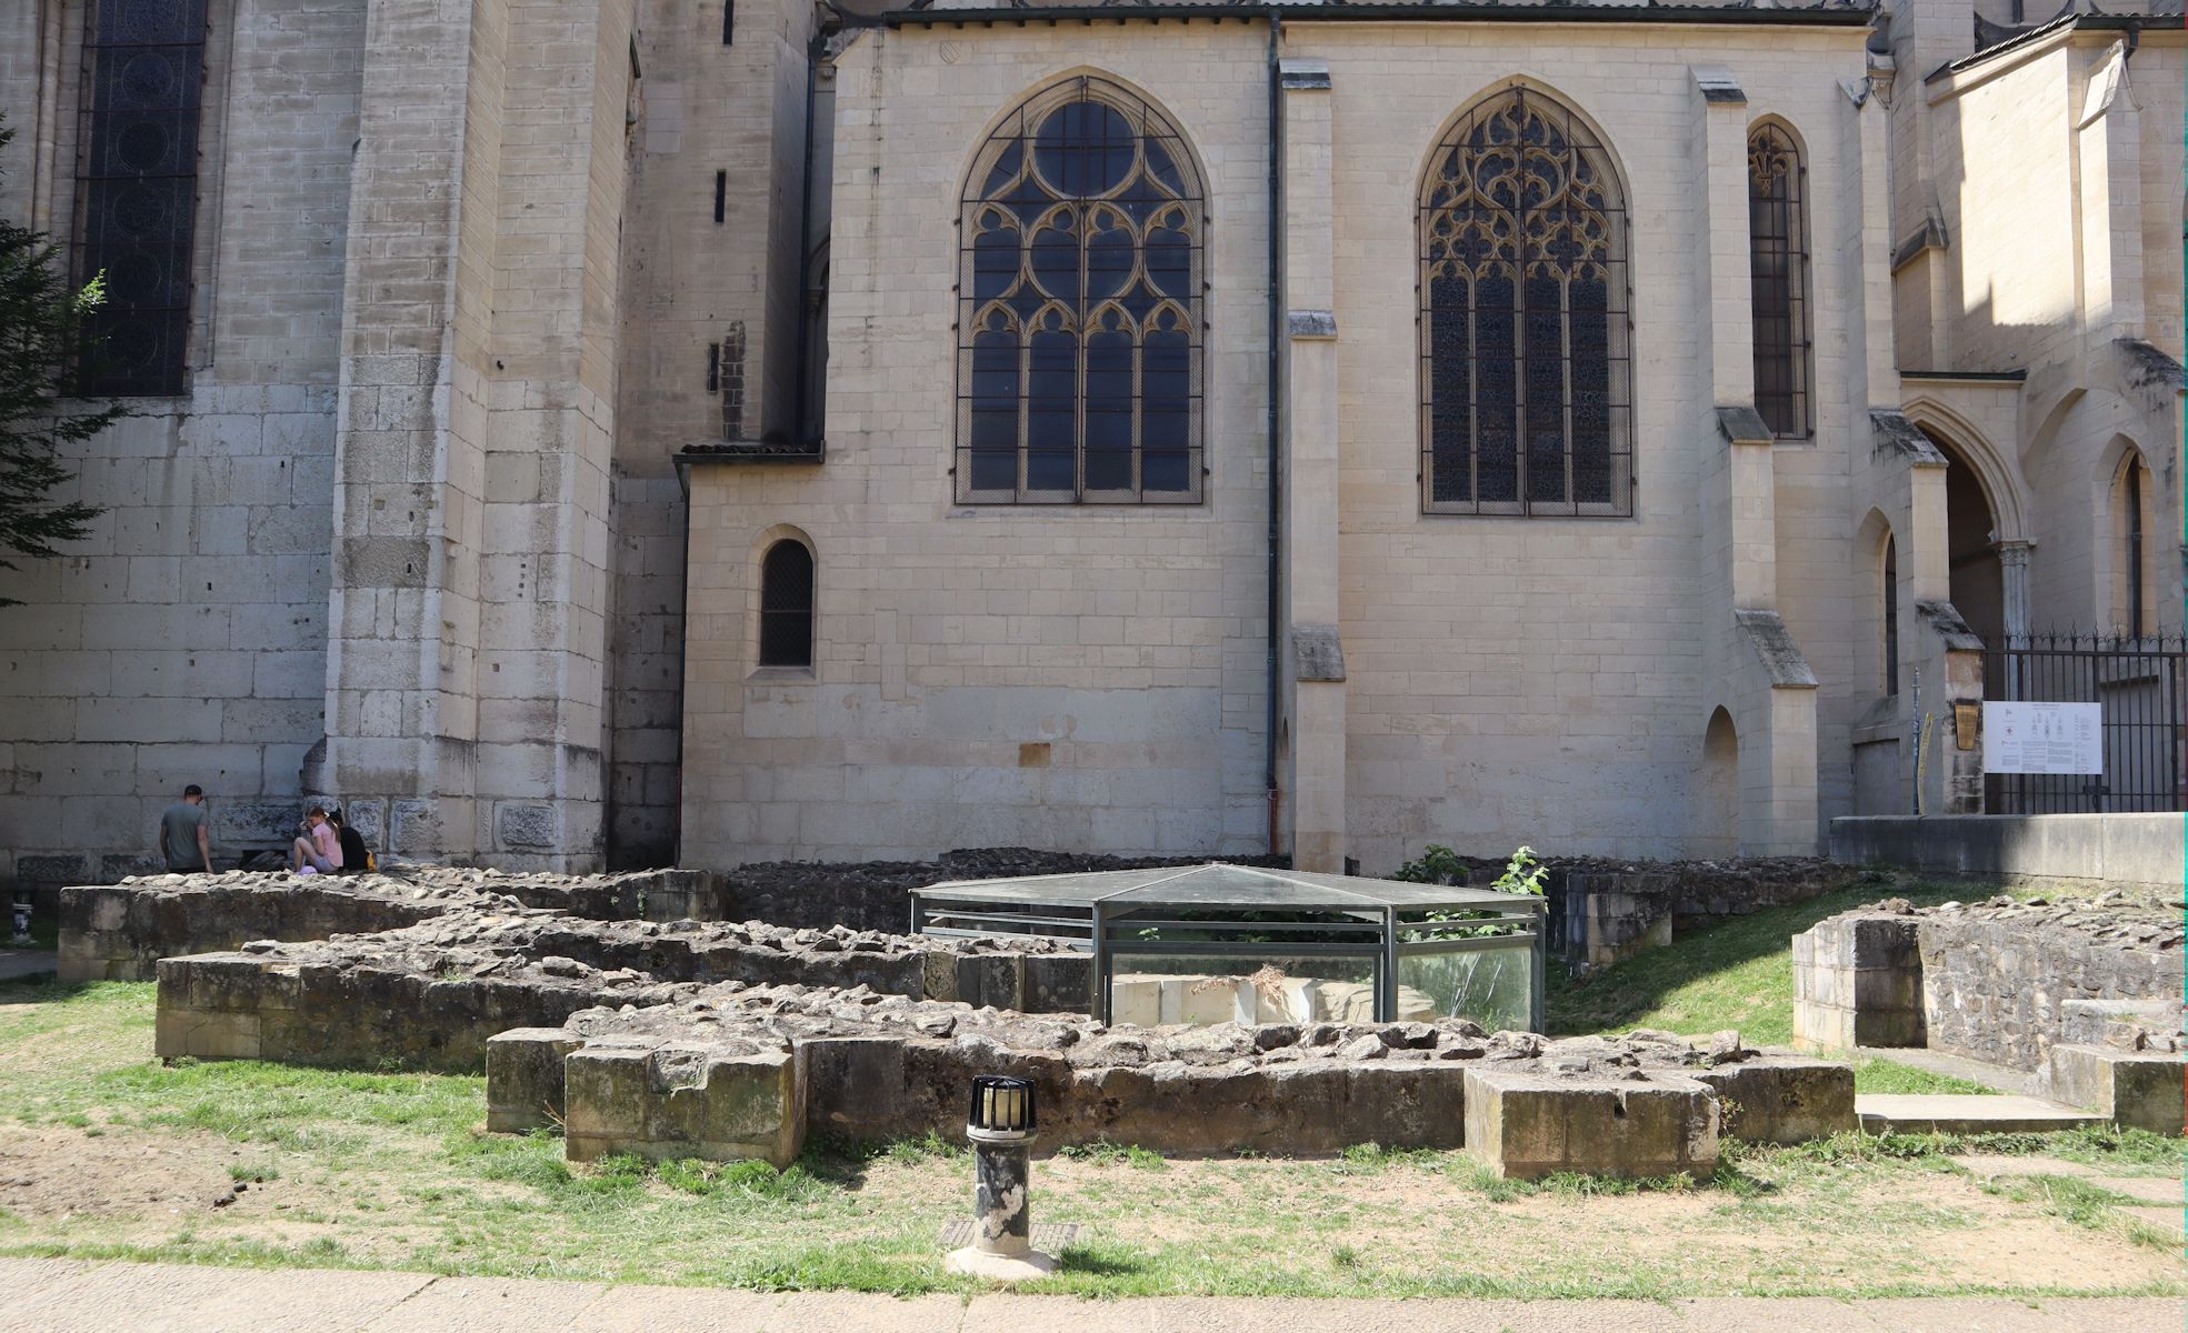
[[[956,1145],[816,1147],[783,1173],[573,1169],[551,1136],[484,1134],[477,1077],[160,1066],[151,992],[0,985],[0,1254],[971,1289],[936,1243],[969,1215]],[[1035,1169],[1035,1219],[1085,1226],[1039,1289],[2188,1294],[2173,1245],[2100,1193],[1987,1186],[1950,1156],[1976,1147],[2179,1173],[2179,1145],[2146,1134],[1844,1136],[1735,1149],[1715,1180],[1641,1186],[1512,1184],[1451,1151],[1164,1160],[1096,1147]]]

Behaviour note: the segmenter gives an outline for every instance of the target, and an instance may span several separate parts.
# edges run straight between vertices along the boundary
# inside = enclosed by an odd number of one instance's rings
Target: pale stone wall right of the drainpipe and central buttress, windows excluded
[[[1746,116],[1779,116],[1812,182],[1847,175],[1862,77],[1858,31],[1300,26],[1330,61],[1341,580],[1348,665],[1350,854],[1385,871],[1422,843],[1497,854],[1698,856],[1707,615],[1715,558],[1698,479],[1724,444],[1709,414],[1711,335],[1696,293],[1700,112],[1691,68],[1731,72]],[[1416,225],[1420,173],[1451,116],[1514,77],[1593,120],[1623,173],[1634,311],[1634,517],[1501,519],[1420,512]],[[1849,799],[1844,744],[1847,457],[1866,447],[1860,215],[1814,188],[1814,444],[1777,464],[1779,608],[1807,652],[1831,727],[1818,733],[1825,810]],[[1742,243],[1746,223],[1739,219]]]

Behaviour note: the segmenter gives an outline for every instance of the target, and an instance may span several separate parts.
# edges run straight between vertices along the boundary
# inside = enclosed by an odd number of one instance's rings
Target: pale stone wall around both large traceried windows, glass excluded
[[[1809,153],[1812,291],[1858,282],[1862,33],[1293,24],[1335,90],[1339,565],[1348,834],[1363,869],[1466,851],[1680,856],[1709,703],[1696,506],[1711,449],[1696,293],[1698,94],[1726,66],[1748,116]],[[1002,24],[862,33],[838,74],[829,457],[694,473],[685,849],[696,858],[926,856],[1013,841],[1241,851],[1262,803],[1267,33]],[[980,136],[1092,70],[1199,151],[1210,201],[1208,501],[1195,510],[954,506],[956,199]],[[1628,184],[1639,361],[1634,519],[1422,517],[1418,182],[1459,107],[1527,77],[1593,116]],[[906,107],[917,107],[917,114]],[[886,151],[884,151],[886,136]],[[1746,234],[1744,217],[1739,234]],[[1847,455],[1869,447],[1860,306],[1816,302],[1818,442],[1777,451],[1783,611],[1831,703],[1814,751],[1851,801]],[[1862,385],[1862,387],[1855,387]],[[755,670],[757,563],[818,556],[818,668]],[[1866,703],[1866,698],[1862,700]],[[1825,749],[1823,742],[1831,742]],[[1785,757],[1779,764],[1788,762]],[[862,849],[862,851],[858,851]]]

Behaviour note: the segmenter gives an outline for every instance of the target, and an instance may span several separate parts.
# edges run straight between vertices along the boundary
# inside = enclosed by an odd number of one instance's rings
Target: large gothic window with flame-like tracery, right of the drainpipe
[[[1626,204],[1525,88],[1459,116],[1420,190],[1422,508],[1630,514]]]

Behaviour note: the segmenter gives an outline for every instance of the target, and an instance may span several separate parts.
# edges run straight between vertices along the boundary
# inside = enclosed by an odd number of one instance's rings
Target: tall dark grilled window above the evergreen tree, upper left
[[[83,392],[186,387],[206,0],[96,0],[83,37],[77,282],[105,274],[85,320]]]

